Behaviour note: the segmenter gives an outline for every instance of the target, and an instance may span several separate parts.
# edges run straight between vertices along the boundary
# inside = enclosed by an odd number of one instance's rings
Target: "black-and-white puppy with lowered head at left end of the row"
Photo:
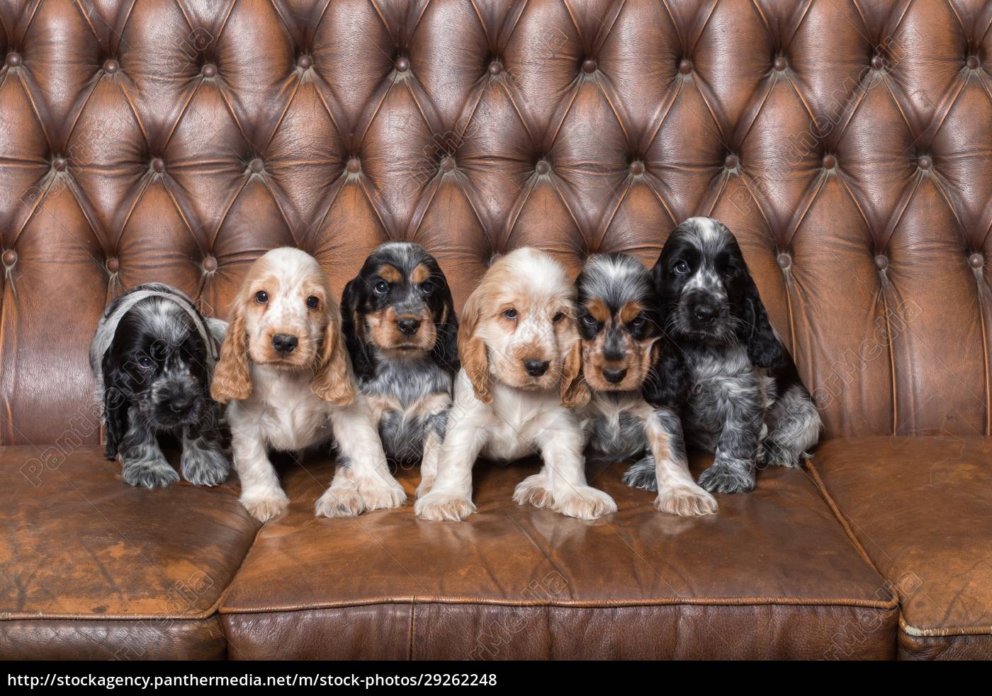
[[[210,375],[227,323],[204,319],[189,297],[164,284],[138,286],[110,303],[89,346],[107,459],[120,457],[131,486],[180,480],[159,447],[171,433],[183,444],[180,468],[192,484],[215,486],[228,462],[218,430],[220,406]]]

